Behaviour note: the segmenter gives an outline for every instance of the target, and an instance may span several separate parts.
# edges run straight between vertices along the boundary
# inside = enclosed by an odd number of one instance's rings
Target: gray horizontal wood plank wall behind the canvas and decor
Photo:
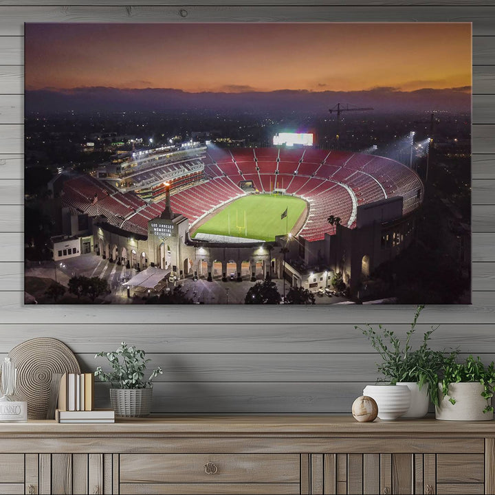
[[[14,5],[12,5],[14,3]],[[222,4],[225,4],[222,6]],[[427,307],[434,346],[495,358],[495,1],[0,0],[0,355],[36,336],[60,338],[85,371],[121,340],[164,375],[154,411],[348,412],[375,380],[375,354],[353,328],[382,322],[403,335],[414,307],[24,307],[23,23],[472,21],[473,305]],[[251,4],[251,5],[249,5]],[[356,4],[360,4],[356,6]],[[98,386],[100,405],[107,391]]]

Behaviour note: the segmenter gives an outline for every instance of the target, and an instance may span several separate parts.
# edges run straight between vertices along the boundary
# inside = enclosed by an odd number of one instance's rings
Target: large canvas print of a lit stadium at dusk
[[[25,25],[25,303],[469,304],[470,23]]]

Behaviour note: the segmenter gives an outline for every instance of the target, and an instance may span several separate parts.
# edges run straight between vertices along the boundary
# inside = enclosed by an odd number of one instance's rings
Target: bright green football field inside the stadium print
[[[281,219],[287,208],[287,218]],[[195,232],[274,241],[294,227],[306,202],[292,196],[249,195],[232,201]]]

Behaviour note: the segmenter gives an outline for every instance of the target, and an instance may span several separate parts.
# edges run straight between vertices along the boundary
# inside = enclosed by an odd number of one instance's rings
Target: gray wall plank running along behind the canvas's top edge
[[[341,3],[341,2],[340,2]],[[182,13],[184,10],[182,9]],[[450,9],[423,6],[393,5],[311,5],[274,8],[271,5],[252,6],[191,6],[187,10],[189,22],[239,22],[248,19],[252,22],[318,22],[325,19],[331,22],[473,22],[476,35],[493,35],[494,11],[489,6],[478,6],[476,12],[467,5],[452,6]],[[30,8],[1,7],[1,32],[6,35],[22,36],[23,22],[120,22],[153,23],[159,21],[184,22],[181,9],[173,6],[133,6],[129,10],[123,5],[96,8],[67,5],[65,7],[47,5]]]

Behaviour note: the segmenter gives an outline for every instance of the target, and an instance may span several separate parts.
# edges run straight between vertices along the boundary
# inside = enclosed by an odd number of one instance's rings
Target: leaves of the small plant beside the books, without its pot
[[[127,346],[125,342],[115,352],[99,352],[96,358],[107,358],[111,364],[110,373],[104,373],[101,366],[95,371],[95,376],[102,382],[111,382],[117,388],[151,388],[153,378],[162,375],[161,368],[154,369],[148,378],[144,380],[144,370],[149,359],[144,359],[146,353],[135,346]]]

